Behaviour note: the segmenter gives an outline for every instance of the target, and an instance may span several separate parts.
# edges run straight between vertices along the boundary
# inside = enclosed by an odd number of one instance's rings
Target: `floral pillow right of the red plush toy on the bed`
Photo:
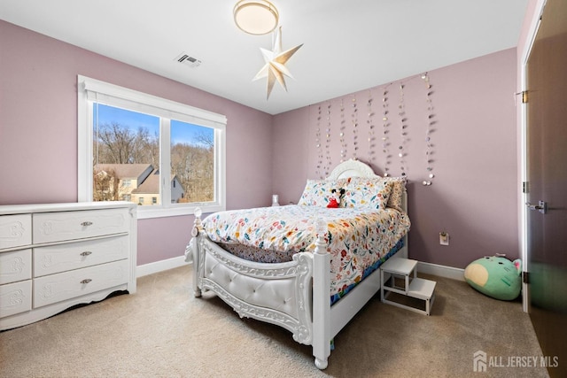
[[[353,177],[345,188],[344,207],[384,209],[392,193],[392,184],[381,177]]]

